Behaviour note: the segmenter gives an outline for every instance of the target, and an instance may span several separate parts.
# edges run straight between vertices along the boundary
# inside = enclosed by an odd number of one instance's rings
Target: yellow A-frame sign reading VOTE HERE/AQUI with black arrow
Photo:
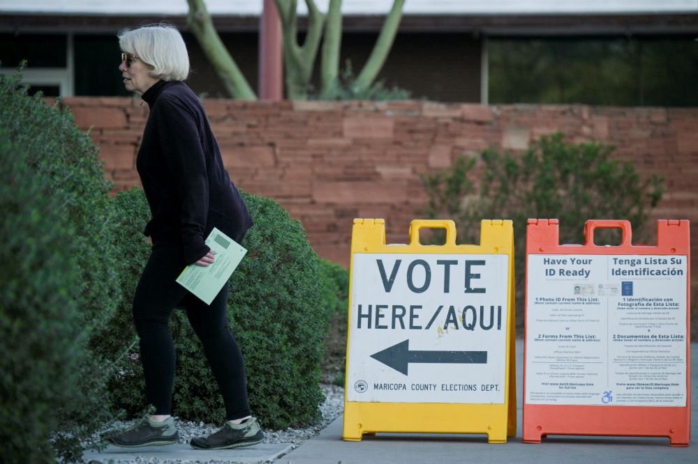
[[[445,245],[419,231],[446,230]],[[456,245],[450,220],[414,220],[386,245],[383,219],[352,230],[344,440],[364,434],[516,433],[514,234],[483,220]]]

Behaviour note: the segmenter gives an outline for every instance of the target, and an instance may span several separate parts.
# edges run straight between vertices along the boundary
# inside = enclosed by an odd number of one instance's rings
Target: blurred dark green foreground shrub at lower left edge
[[[75,395],[77,249],[58,201],[6,137],[0,131],[0,440],[4,462],[49,462],[52,410]]]

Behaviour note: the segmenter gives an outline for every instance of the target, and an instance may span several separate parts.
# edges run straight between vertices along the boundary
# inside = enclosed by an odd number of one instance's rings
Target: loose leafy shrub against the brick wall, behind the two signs
[[[459,243],[479,242],[482,219],[513,220],[517,325],[522,327],[528,218],[559,219],[560,243],[583,243],[587,219],[628,219],[636,242],[648,234],[644,225],[662,198],[663,180],[655,174],[641,179],[630,162],[612,160],[613,151],[596,143],[568,144],[558,132],[521,155],[484,150],[482,172],[475,158],[461,157],[450,169],[422,176],[429,197],[422,212],[454,219]],[[475,179],[479,194],[473,194]],[[617,240],[604,235],[608,231],[597,231],[595,240]]]

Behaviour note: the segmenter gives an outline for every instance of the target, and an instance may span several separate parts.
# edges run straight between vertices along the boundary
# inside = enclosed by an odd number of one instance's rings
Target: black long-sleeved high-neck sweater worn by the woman
[[[206,113],[184,82],[158,81],[142,95],[150,107],[136,168],[153,243],[179,242],[187,264],[202,258],[214,227],[240,242],[252,219],[230,182]]]

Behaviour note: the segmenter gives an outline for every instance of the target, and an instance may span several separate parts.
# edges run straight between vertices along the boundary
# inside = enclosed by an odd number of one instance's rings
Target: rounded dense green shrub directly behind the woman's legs
[[[255,225],[243,245],[248,254],[230,280],[228,318],[245,357],[253,413],[269,428],[309,424],[318,419],[322,394],[318,385],[327,320],[336,308],[336,293],[325,289],[320,260],[299,222],[278,203],[243,194]],[[110,331],[135,337],[131,300],[149,250],[141,235],[149,219],[140,190],[119,194],[119,265],[124,303]],[[181,419],[223,422],[223,400],[184,311],[174,311],[172,338],[177,353],[174,414]],[[142,371],[135,356],[125,358],[111,384],[117,404],[135,414],[144,406]]]

